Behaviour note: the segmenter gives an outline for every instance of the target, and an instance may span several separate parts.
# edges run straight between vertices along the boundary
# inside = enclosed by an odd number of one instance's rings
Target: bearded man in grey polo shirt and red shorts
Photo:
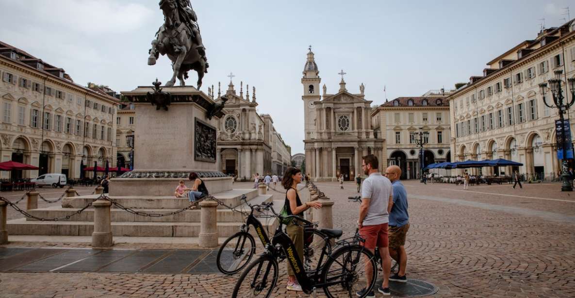
[[[391,259],[388,250],[388,221],[389,210],[393,205],[392,183],[378,171],[378,160],[375,155],[363,156],[362,168],[364,174],[369,175],[369,177],[363,181],[362,185],[362,203],[358,219],[359,234],[365,239],[362,245],[366,249],[373,253],[376,246],[379,248],[379,254],[383,261],[384,283],[378,288],[378,291],[384,296],[389,296]],[[368,287],[373,279],[372,270],[371,263],[366,260],[365,271]],[[362,296],[366,291],[367,288],[364,288],[362,291],[358,291],[357,295]],[[375,295],[371,291],[366,297],[375,297]]]

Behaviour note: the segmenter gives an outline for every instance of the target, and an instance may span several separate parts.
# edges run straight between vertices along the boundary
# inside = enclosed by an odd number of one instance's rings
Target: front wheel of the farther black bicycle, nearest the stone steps
[[[217,252],[216,265],[221,273],[240,272],[255,254],[255,240],[248,232],[237,232],[227,238]]]

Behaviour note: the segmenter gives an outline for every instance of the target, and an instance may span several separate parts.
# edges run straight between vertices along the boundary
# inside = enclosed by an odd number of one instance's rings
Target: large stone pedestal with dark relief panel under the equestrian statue
[[[232,189],[232,178],[217,168],[217,126],[222,112],[211,118],[214,101],[191,86],[162,87],[171,104],[157,109],[148,92],[138,87],[122,92],[136,109],[134,170],[110,181],[110,195],[173,195],[180,179],[188,186],[190,172],[204,180],[210,193]]]

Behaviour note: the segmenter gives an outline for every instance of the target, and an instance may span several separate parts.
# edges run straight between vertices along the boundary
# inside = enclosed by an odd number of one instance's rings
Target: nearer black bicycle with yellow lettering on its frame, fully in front
[[[266,250],[258,259],[252,262],[241,273],[239,280],[233,289],[232,298],[237,297],[264,297],[271,296],[275,285],[278,282],[278,260],[282,257],[287,258],[289,266],[292,266],[293,272],[302,291],[306,294],[314,294],[316,289],[323,289],[325,295],[333,297],[356,297],[356,292],[361,291],[366,285],[365,264],[366,261],[371,263],[371,276],[373,279],[367,291],[359,296],[364,298],[373,289],[377,279],[377,264],[373,254],[364,249],[363,246],[354,244],[355,242],[365,241],[359,234],[355,234],[352,241],[340,240],[338,245],[341,247],[335,252],[327,253],[327,243],[331,238],[342,236],[342,230],[321,229],[327,236],[323,239],[325,244],[321,251],[320,259],[316,270],[306,271],[302,264],[300,256],[296,252],[296,246],[292,240],[283,232],[283,219],[292,218],[292,221],[299,221],[309,224],[305,219],[296,215],[282,217],[275,213],[279,219],[278,228],[271,240],[266,245]],[[323,258],[326,258],[325,262]],[[321,270],[320,270],[321,267]],[[359,285],[359,288],[355,288]]]

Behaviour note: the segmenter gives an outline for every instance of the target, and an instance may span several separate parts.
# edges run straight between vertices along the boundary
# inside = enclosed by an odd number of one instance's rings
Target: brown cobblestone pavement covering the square
[[[347,197],[356,194],[355,185],[345,183],[344,190],[333,182],[316,185],[335,201],[335,228],[351,235],[358,203]],[[434,296],[575,296],[575,193],[561,193],[559,183],[527,184],[521,190],[470,186],[468,191],[443,183],[405,185],[411,222],[407,275],[437,285]],[[272,193],[283,199],[283,193]],[[280,269],[273,297],[307,296],[286,293],[285,264]],[[0,297],[229,297],[237,277],[0,273]]]

